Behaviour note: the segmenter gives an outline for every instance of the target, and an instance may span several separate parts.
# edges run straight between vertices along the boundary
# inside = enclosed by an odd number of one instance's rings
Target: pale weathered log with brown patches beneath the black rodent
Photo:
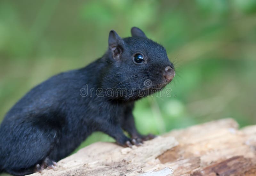
[[[256,125],[238,130],[233,119],[171,132],[133,149],[97,142],[58,162],[56,176],[256,175]],[[40,173],[31,176],[41,176]]]

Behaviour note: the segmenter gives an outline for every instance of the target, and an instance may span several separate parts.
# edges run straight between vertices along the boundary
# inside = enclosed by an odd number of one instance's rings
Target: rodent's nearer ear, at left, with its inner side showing
[[[114,59],[120,59],[121,54],[124,50],[124,41],[123,39],[116,33],[116,31],[111,30],[108,36],[108,47],[112,51],[112,55]]]

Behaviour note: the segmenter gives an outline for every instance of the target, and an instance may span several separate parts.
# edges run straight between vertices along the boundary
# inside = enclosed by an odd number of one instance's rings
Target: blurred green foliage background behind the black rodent
[[[136,103],[141,133],[210,120],[256,123],[256,1],[0,1],[0,121],[30,88],[101,57],[111,29],[140,27],[174,61],[172,97]],[[113,141],[95,133],[81,146]]]

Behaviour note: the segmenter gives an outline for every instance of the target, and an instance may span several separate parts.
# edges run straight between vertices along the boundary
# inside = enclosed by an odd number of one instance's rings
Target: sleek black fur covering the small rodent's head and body
[[[123,130],[132,138],[145,137],[134,125],[134,100],[141,97],[134,88],[146,92],[143,96],[163,88],[168,83],[164,68],[173,65],[164,47],[141,32],[133,28],[133,37],[122,39],[111,31],[103,57],[82,69],[55,75],[23,96],[0,126],[0,170],[13,175],[36,172],[35,166],[46,157],[53,161],[67,157],[94,131],[110,135],[122,146],[131,142]],[[145,63],[136,65],[135,53],[143,54]],[[145,87],[145,80],[152,85]],[[94,88],[91,96],[81,96],[86,86]],[[97,88],[102,88],[103,96],[96,95]],[[132,96],[109,97],[108,88],[125,89]]]

